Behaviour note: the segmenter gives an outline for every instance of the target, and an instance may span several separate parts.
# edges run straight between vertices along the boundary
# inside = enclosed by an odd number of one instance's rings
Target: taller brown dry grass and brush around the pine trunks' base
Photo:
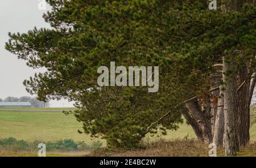
[[[159,140],[155,143],[146,145],[144,149],[125,150],[125,149],[106,149],[100,148],[87,156],[208,156],[208,145],[196,140]],[[217,149],[217,156],[225,156],[222,148]],[[247,147],[241,147],[238,156],[256,156],[256,143],[251,143]]]

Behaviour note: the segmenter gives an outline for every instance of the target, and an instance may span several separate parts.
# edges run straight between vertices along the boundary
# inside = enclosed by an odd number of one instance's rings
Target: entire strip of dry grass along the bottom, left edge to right
[[[67,157],[67,156],[208,156],[208,145],[201,143],[197,140],[159,140],[150,144],[144,145],[142,149],[135,150],[127,150],[127,149],[108,149],[108,148],[100,148],[94,150],[92,153],[89,151],[80,151],[80,152],[62,152],[62,151],[49,151],[47,152],[47,156],[59,156],[59,157]],[[218,148],[217,150],[218,156],[225,156],[224,150],[222,148]],[[36,157],[37,151],[19,151],[14,152],[10,150],[3,150],[0,148],[0,156],[31,156]],[[256,156],[256,143],[250,143],[246,147],[241,147],[240,152],[238,152],[238,156]]]

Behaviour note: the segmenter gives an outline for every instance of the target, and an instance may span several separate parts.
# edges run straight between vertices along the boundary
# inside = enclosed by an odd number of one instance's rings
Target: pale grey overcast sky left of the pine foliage
[[[41,0],[42,1],[42,0]],[[15,55],[5,50],[5,42],[8,41],[8,32],[27,32],[35,26],[38,28],[48,27],[42,15],[47,10],[39,10],[40,0],[4,0],[0,6],[0,98],[7,96],[30,96],[26,92],[22,82],[35,72],[26,66],[26,62],[19,60]],[[71,107],[72,102],[51,101],[52,107]]]

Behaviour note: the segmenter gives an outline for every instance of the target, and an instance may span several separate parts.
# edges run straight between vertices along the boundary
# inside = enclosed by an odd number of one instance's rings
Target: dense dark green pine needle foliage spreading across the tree
[[[209,73],[224,55],[255,55],[255,7],[210,11],[199,1],[58,1],[44,19],[52,29],[9,33],[6,49],[47,72],[25,80],[40,100],[76,101],[84,132],[113,147],[139,147],[147,127],[176,130],[177,104],[210,88]],[[241,50],[242,54],[233,54]],[[159,92],[147,87],[97,87],[97,68],[159,66]],[[206,75],[205,75],[206,74]],[[81,132],[81,131],[80,131]]]

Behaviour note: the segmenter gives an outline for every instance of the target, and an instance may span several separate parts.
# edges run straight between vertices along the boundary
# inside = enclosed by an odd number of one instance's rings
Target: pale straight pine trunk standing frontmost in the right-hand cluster
[[[224,57],[223,63],[223,81],[225,83],[224,90],[224,143],[226,155],[236,155],[239,150],[238,127],[237,127],[237,76],[234,73],[236,70],[236,62],[232,59],[228,62]]]

